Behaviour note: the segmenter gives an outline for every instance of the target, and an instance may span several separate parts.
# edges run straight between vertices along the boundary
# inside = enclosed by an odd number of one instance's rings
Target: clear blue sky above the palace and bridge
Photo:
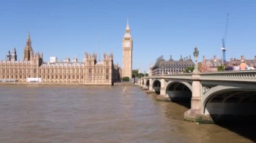
[[[113,52],[122,64],[127,17],[133,36],[133,68],[147,70],[158,56],[220,58],[226,15],[227,60],[256,55],[255,0],[1,0],[0,59],[14,46],[22,60],[28,32],[34,51],[82,61],[84,52]],[[102,56],[101,56],[102,57]]]

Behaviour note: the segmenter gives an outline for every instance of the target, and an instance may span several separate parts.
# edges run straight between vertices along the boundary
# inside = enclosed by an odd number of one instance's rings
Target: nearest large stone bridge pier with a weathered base
[[[202,103],[202,85],[199,81],[200,75],[198,73],[192,75],[192,98],[191,109],[184,113],[184,120],[189,122],[208,123],[212,124],[214,121],[210,115],[204,115],[201,109]]]

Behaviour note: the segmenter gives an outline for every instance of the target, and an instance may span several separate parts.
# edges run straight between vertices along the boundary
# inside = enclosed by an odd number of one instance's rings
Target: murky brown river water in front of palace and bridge
[[[0,86],[0,142],[254,142],[249,125],[185,122],[139,87]]]

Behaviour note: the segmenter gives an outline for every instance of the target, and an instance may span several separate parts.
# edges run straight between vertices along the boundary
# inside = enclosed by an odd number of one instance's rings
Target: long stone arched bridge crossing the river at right
[[[221,117],[255,117],[256,70],[143,77],[141,88],[170,101],[191,101],[184,119],[210,123]]]

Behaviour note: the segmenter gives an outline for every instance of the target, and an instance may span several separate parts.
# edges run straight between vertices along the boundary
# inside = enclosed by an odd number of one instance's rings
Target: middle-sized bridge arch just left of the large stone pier
[[[172,101],[190,101],[192,97],[192,86],[187,82],[168,81],[165,90]]]

